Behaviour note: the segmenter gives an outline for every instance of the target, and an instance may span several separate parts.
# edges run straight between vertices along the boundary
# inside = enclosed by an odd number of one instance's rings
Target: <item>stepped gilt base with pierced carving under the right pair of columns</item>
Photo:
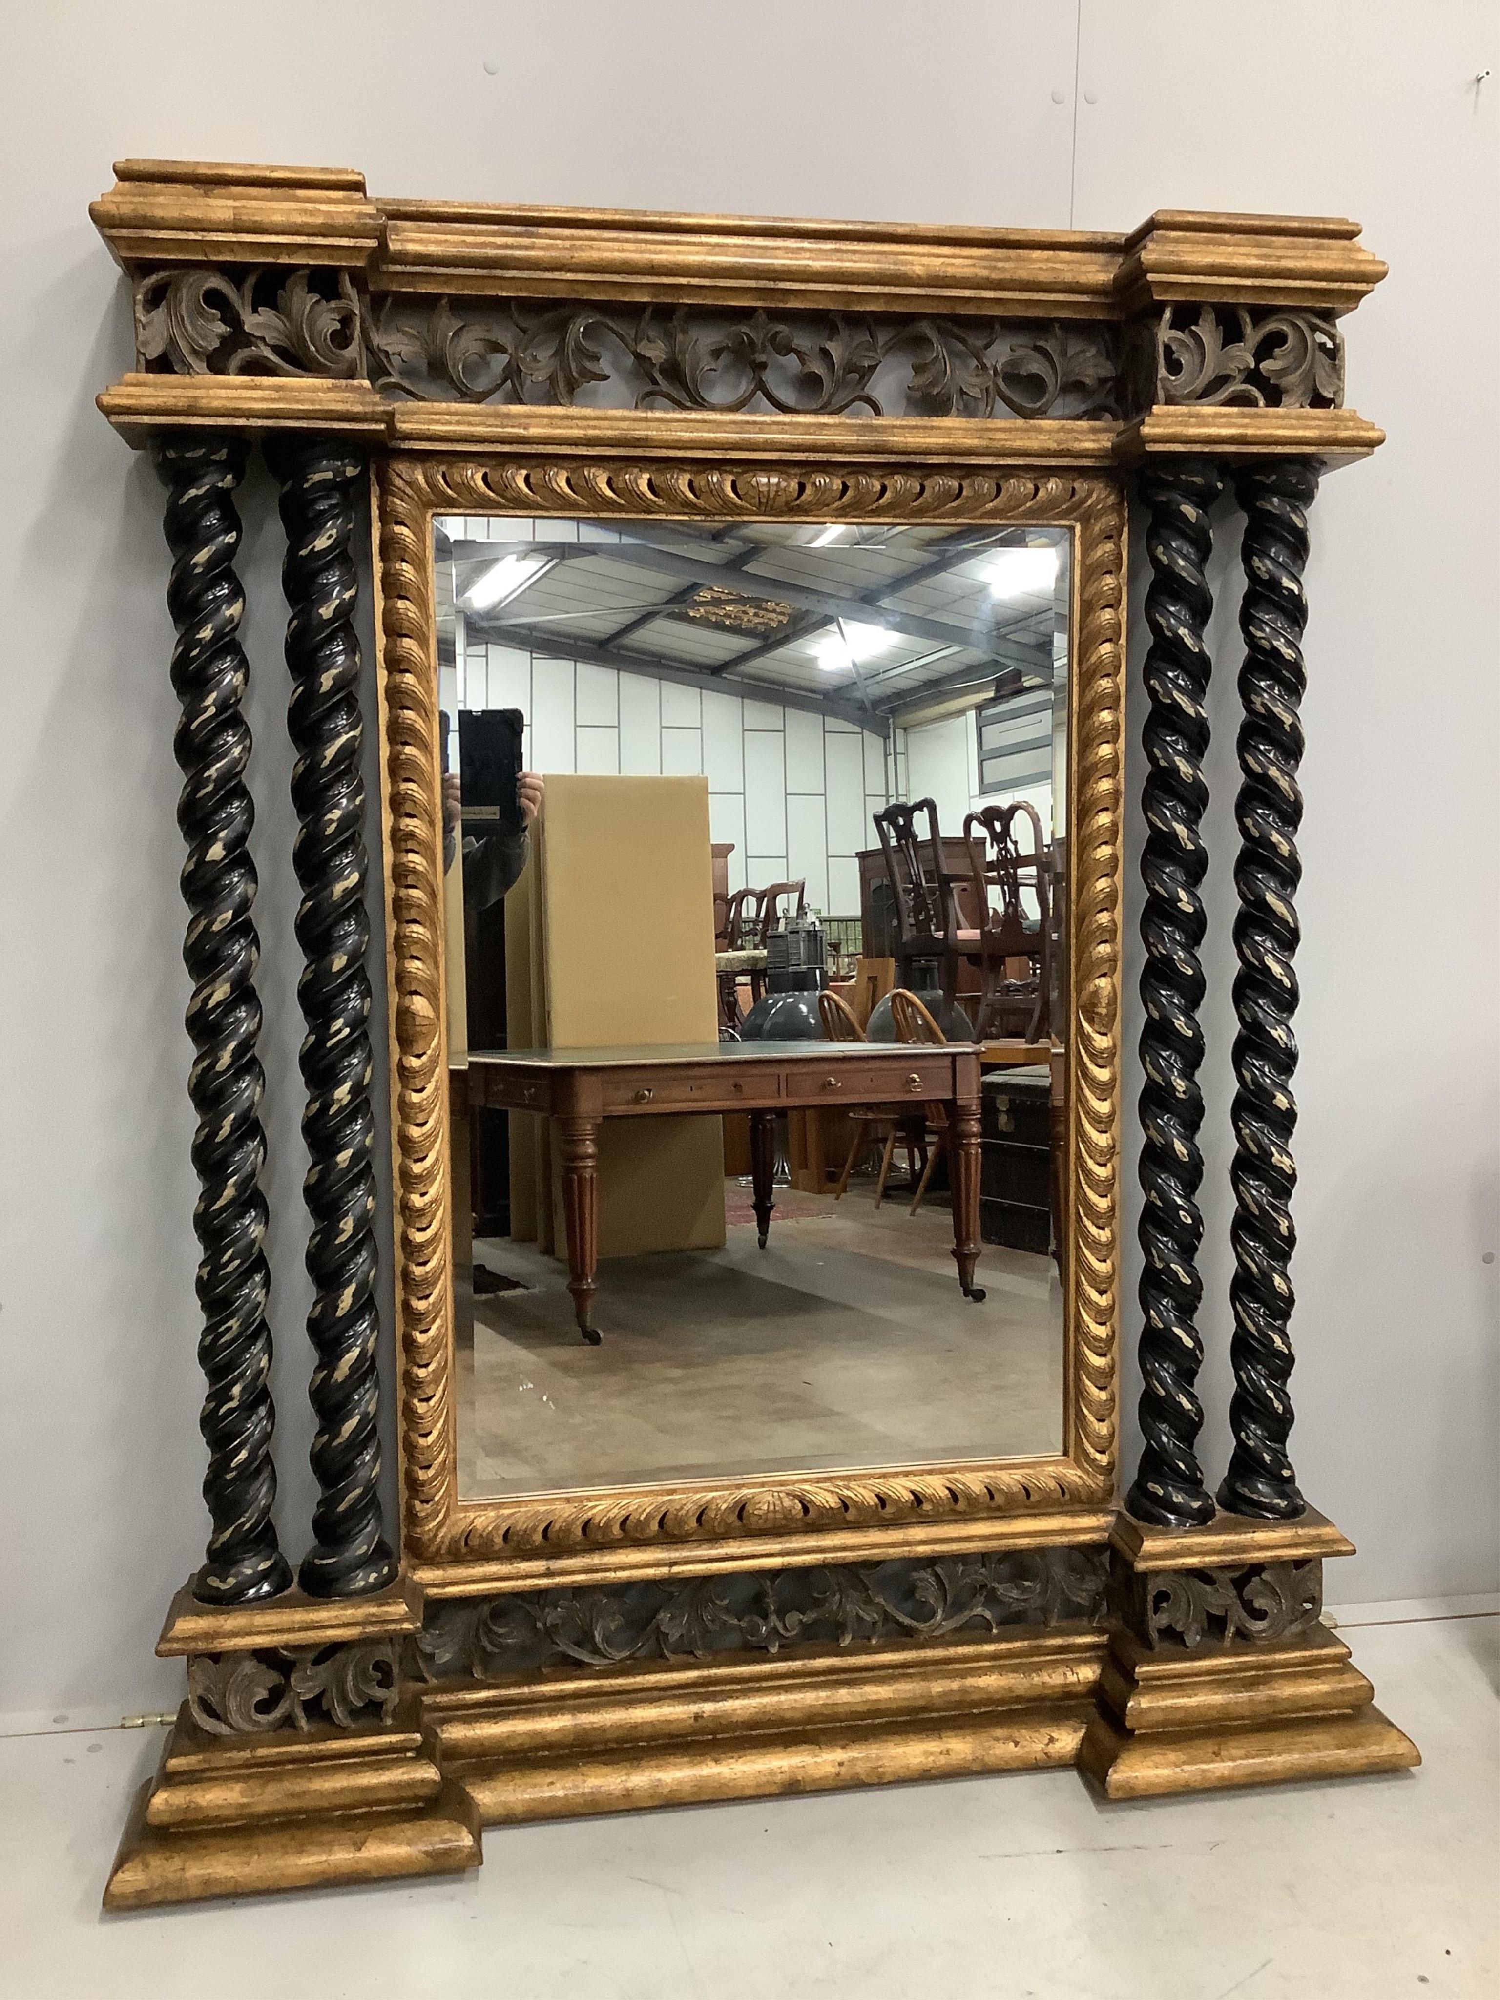
[[[1078,1768],[1108,1798],[1344,1778],[1420,1764],[1322,1624],[1330,1520],[1218,1514],[1110,1536],[1114,1632]]]

